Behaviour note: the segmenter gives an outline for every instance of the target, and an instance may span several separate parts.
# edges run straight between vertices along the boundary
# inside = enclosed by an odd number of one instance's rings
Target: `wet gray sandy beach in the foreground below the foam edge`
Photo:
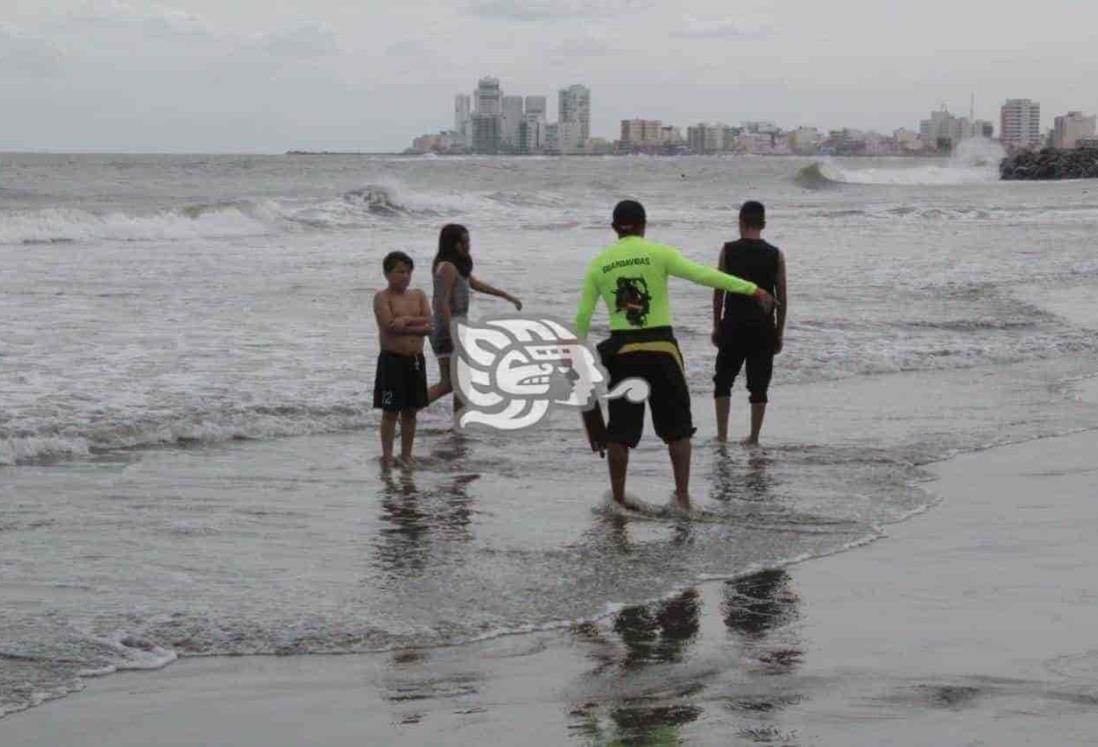
[[[1094,447],[961,456],[872,545],[568,632],[188,659],[14,714],[0,744],[1093,744]]]

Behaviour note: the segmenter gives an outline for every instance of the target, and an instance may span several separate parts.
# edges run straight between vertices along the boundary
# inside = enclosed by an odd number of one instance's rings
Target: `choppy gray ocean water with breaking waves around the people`
[[[381,470],[381,257],[429,287],[461,222],[479,276],[571,319],[627,197],[705,263],[768,204],[791,310],[764,447],[713,442],[710,297],[673,281],[702,515],[607,510],[563,415],[457,436],[436,405],[421,466]],[[2,155],[0,715],[179,656],[570,627],[873,540],[932,510],[922,466],[1098,426],[1096,236],[1098,183],[1001,183],[979,154]],[[670,486],[648,434],[630,490]]]

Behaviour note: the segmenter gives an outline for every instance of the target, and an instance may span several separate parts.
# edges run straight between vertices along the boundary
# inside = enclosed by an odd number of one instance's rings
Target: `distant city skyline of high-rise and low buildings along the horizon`
[[[1091,147],[1098,116],[1072,110],[1054,118],[1054,127],[1042,131],[1041,103],[1007,99],[995,122],[977,119],[976,96],[970,96],[967,115],[942,103],[919,121],[917,129],[901,125],[881,133],[843,126],[821,131],[802,124],[786,129],[766,120],[725,121],[686,125],[656,119],[620,121],[620,136],[600,137],[590,131],[591,89],[573,83],[558,91],[558,122],[548,122],[546,96],[507,96],[500,78],[482,77],[471,94],[455,97],[452,130],[415,137],[411,154],[481,155],[652,155],[746,153],[760,155],[941,155],[972,138],[996,140],[1007,152],[1044,146]],[[527,111],[525,103],[533,103]]]

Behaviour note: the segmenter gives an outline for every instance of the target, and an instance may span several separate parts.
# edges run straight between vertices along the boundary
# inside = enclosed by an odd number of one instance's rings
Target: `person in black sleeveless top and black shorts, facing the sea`
[[[743,303],[731,293],[713,292],[713,344],[719,348],[713,377],[717,411],[717,439],[728,439],[728,411],[732,381],[747,364],[751,402],[751,434],[744,444],[758,444],[766,414],[768,390],[774,356],[782,352],[785,333],[785,257],[781,249],[762,239],[766,212],[760,202],[740,208],[740,239],[720,250],[722,272],[750,280],[774,297],[774,308],[764,312],[757,303]]]

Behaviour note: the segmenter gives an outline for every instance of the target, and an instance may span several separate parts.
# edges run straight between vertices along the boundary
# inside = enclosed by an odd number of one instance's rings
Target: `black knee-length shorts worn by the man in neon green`
[[[626,379],[648,382],[652,424],[664,443],[694,435],[683,357],[671,327],[612,333],[609,339],[598,345],[598,354],[610,376],[612,390]],[[645,403],[620,398],[610,400],[607,410],[607,443],[636,448],[645,428]]]

